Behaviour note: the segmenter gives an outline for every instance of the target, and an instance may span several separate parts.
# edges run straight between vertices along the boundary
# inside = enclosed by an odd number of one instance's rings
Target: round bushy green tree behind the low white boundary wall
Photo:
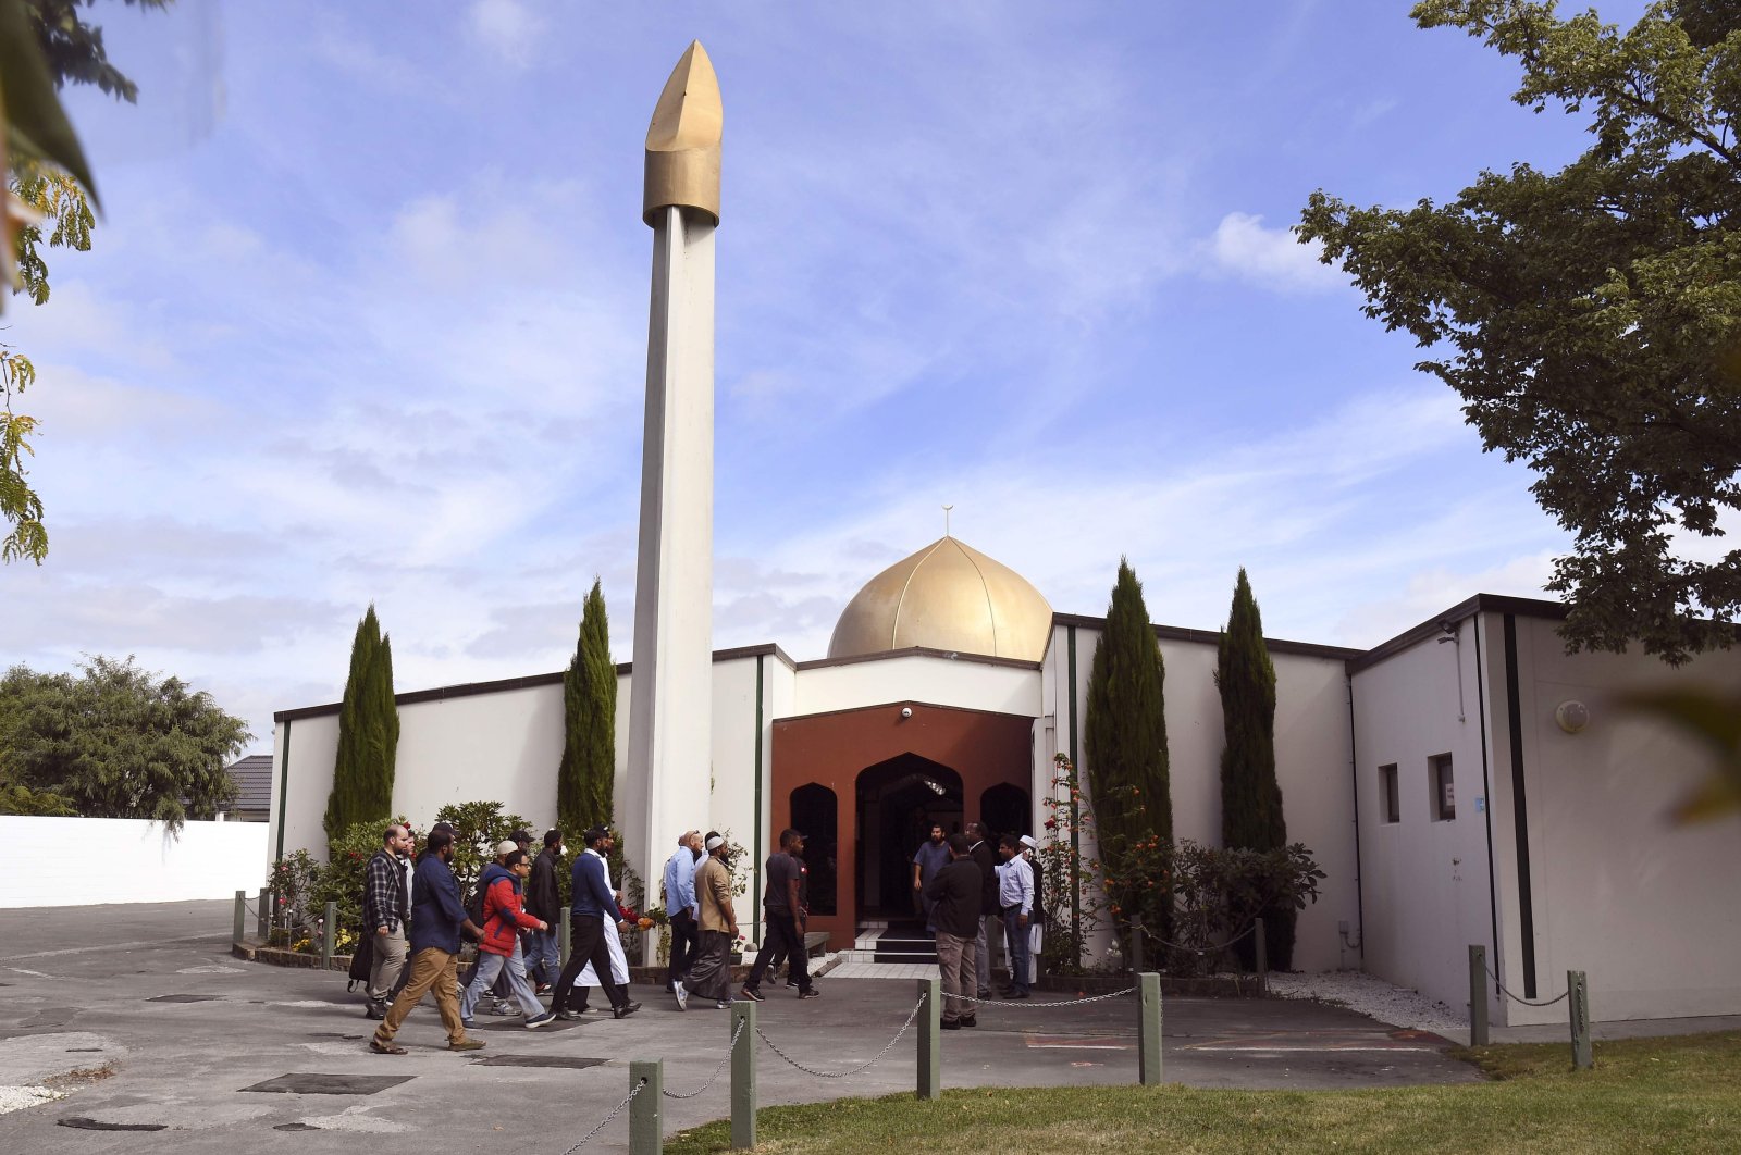
[[[235,798],[228,762],[251,734],[205,692],[132,658],[82,677],[14,666],[0,678],[0,784],[38,812],[148,818],[181,830]],[[47,797],[45,797],[47,795]]]

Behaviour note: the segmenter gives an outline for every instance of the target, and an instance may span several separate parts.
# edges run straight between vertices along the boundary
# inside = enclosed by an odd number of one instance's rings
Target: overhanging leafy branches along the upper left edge
[[[42,249],[89,250],[96,224],[91,212],[96,184],[56,89],[94,83],[117,99],[138,99],[138,85],[110,63],[103,30],[84,21],[80,7],[89,3],[0,0],[0,108],[5,110],[0,169],[7,177],[0,270],[35,304],[49,301]],[[169,0],[127,3],[162,9]],[[37,419],[12,407],[35,379],[28,357],[0,346],[0,522],[10,525],[0,539],[0,564],[31,558],[40,565],[49,553],[42,497],[26,468],[35,454]]]

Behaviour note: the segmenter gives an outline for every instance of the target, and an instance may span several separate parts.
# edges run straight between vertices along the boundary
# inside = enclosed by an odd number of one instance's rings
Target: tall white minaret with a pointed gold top
[[[641,551],[629,694],[627,851],[658,898],[677,835],[707,828],[714,633],[714,230],[723,110],[696,40],[648,127],[653,226]]]

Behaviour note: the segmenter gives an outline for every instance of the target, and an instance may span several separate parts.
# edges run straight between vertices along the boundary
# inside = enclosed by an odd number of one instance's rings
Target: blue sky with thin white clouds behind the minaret
[[[1372,645],[1567,539],[1421,351],[1288,226],[1447,198],[1583,125],[1389,0],[97,5],[70,94],[108,207],[37,360],[45,565],[5,659],[138,654],[247,717],[334,701],[373,600],[400,691],[630,658],[651,231],[700,38],[726,108],[716,644],[818,658],[942,532],[1100,614]],[[1628,19],[1637,5],[1603,9]]]

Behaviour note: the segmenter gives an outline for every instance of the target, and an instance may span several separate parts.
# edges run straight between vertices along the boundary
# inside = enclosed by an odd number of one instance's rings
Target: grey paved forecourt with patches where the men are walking
[[[627,1094],[630,1059],[663,1058],[665,1087],[686,1092],[729,1042],[726,1012],[702,1000],[679,1012],[635,988],[644,1009],[623,1021],[588,1014],[528,1031],[481,1014],[489,1045],[474,1054],[442,1049],[425,1004],[399,1035],[411,1054],[376,1056],[343,974],[235,960],[228,934],[230,903],[0,911],[0,1085],[85,1072],[66,1098],[0,1115],[0,1150],[275,1155],[350,1150],[362,1134],[376,1155],[423,1155],[432,1141],[561,1153]],[[876,1056],[916,1002],[911,981],[820,986],[822,998],[799,1002],[770,985],[757,1014],[768,1038],[822,1072]],[[984,1007],[977,1030],[945,1033],[944,1085],[1135,1082],[1135,998],[1048,1005],[1060,998]],[[1163,1037],[1165,1078],[1194,1087],[1480,1080],[1438,1037],[1294,1000],[1173,998]],[[818,1078],[761,1045],[759,1101],[911,1092],[914,1054],[909,1031],[870,1070]],[[665,1101],[667,1134],[728,1112],[723,1075],[695,1099]],[[627,1134],[625,1113],[587,1150],[627,1150]]]

